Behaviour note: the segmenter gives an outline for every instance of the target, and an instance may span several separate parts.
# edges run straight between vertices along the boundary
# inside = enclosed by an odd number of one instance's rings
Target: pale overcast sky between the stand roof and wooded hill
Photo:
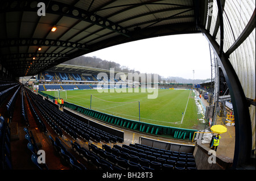
[[[172,35],[133,41],[85,54],[114,61],[141,73],[163,77],[210,78],[209,44],[201,34]]]

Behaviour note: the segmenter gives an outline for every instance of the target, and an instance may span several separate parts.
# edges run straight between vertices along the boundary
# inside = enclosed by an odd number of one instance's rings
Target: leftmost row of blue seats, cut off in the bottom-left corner
[[[11,170],[10,128],[3,116],[0,116],[0,170]]]

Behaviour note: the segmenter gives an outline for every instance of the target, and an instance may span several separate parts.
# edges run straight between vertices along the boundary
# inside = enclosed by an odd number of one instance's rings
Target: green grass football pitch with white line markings
[[[106,91],[106,90],[105,90]],[[44,91],[49,95],[57,95],[54,91]],[[64,96],[64,91],[60,91]],[[139,103],[141,121],[145,123],[169,127],[195,129],[197,125],[197,108],[192,90],[158,89],[156,99],[148,99],[148,93],[142,92],[98,92],[97,90],[67,91],[66,102],[90,108],[92,110],[139,121]],[[184,117],[183,117],[183,114]],[[181,124],[182,122],[182,124]]]

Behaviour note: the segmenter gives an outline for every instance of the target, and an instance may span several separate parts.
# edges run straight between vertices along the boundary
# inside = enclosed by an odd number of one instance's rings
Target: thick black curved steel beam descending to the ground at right
[[[232,99],[234,108],[234,118],[236,121],[236,143],[234,149],[233,169],[242,167],[242,165],[249,164],[251,155],[251,119],[249,113],[249,104],[247,102],[245,93],[243,92],[240,80],[234,70],[231,62],[225,53],[220,52],[220,45],[218,45],[215,38],[210,33],[201,27],[209,44],[211,45],[224,73],[226,83],[229,87],[229,94]]]

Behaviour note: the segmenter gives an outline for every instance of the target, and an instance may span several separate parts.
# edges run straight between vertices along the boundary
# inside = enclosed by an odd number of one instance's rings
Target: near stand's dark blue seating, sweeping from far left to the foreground
[[[5,87],[5,89],[3,88]],[[94,128],[81,120],[72,117],[68,113],[60,111],[54,104],[48,100],[44,100],[42,96],[34,94],[23,86],[2,85],[1,100],[11,103],[17,99],[21,93],[21,113],[22,123],[25,125],[24,140],[26,140],[26,149],[28,151],[31,163],[34,169],[48,170],[54,169],[49,167],[51,163],[38,163],[37,151],[40,149],[40,140],[36,140],[32,132],[32,127],[28,121],[28,108],[35,120],[39,131],[46,135],[51,142],[52,149],[59,157],[59,161],[66,169],[86,170],[88,168],[103,169],[103,170],[166,170],[166,169],[196,169],[195,159],[189,153],[176,153],[170,150],[161,150],[140,144],[122,144],[122,138]],[[10,99],[6,99],[9,94]],[[15,98],[16,97],[16,98]],[[6,100],[7,101],[6,101]],[[1,101],[2,103],[2,101]],[[26,108],[27,103],[27,108]],[[5,103],[4,103],[5,104]],[[6,107],[7,108],[7,107]],[[10,114],[7,114],[10,117]],[[10,127],[7,121],[0,117],[1,128],[1,169],[13,169],[11,165],[10,152]],[[54,131],[55,139],[49,131]],[[70,137],[70,144],[73,152],[67,148],[67,144],[61,141],[64,132]],[[49,134],[49,135],[48,135]],[[67,135],[66,134],[66,135]],[[81,146],[77,140],[80,138],[88,142],[88,148]],[[72,141],[75,140],[75,141]],[[107,145],[109,142],[113,146]],[[96,146],[97,143],[102,143],[102,147]],[[121,143],[122,145],[118,145]],[[42,145],[41,145],[42,146]],[[173,156],[176,155],[176,160],[172,162]],[[78,156],[78,157],[77,157]],[[182,163],[181,163],[182,160]],[[84,162],[86,161],[86,162]],[[82,162],[86,163],[83,164]],[[172,165],[171,165],[172,162]]]

